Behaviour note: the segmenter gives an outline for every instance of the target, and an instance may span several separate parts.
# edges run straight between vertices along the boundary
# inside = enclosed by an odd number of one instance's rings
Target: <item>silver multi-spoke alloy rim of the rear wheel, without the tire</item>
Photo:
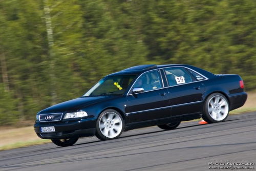
[[[212,119],[221,121],[228,115],[229,106],[226,99],[220,95],[216,95],[209,100],[208,112]]]

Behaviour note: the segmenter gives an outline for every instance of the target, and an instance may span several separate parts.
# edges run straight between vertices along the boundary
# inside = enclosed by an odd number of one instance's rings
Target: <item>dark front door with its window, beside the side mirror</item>
[[[131,124],[157,121],[170,117],[169,93],[163,88],[159,70],[142,74],[134,88],[143,88],[144,92],[127,96],[127,111]]]

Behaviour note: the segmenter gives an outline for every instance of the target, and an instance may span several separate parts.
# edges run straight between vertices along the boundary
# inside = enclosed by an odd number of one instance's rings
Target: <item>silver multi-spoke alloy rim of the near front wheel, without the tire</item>
[[[115,112],[106,112],[100,118],[99,129],[105,137],[117,137],[121,133],[122,127],[122,120]]]

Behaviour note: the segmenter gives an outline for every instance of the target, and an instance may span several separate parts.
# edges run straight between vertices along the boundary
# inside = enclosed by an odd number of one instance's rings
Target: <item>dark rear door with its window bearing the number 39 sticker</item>
[[[195,73],[198,75],[196,77],[191,72],[183,67],[164,69],[172,107],[171,115],[174,119],[195,115],[202,111],[202,99],[205,92],[202,80],[205,78],[198,73]]]

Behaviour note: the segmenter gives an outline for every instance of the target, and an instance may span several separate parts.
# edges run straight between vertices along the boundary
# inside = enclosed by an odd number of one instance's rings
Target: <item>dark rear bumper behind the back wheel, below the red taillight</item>
[[[228,98],[230,103],[230,111],[232,111],[244,105],[244,103],[247,100],[247,93],[242,92],[242,93],[231,94],[231,95],[228,95]]]

